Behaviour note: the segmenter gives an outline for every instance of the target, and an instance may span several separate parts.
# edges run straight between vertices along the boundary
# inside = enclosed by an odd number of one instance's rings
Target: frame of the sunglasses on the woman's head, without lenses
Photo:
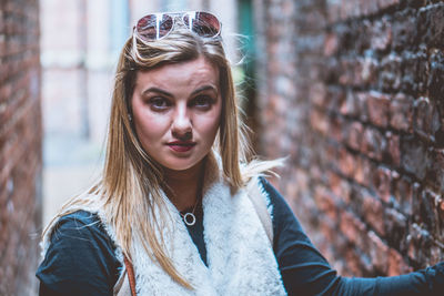
[[[200,16],[201,13],[203,13],[204,16],[208,16],[208,17],[210,17],[210,18],[213,18],[213,19],[218,22],[218,27],[219,27],[219,28],[215,27],[215,25],[214,25],[214,27],[212,27],[212,25],[206,25],[206,27],[205,27],[205,28],[209,28],[210,30],[218,30],[218,32],[216,32],[215,34],[212,34],[212,35],[204,35],[204,34],[201,34],[201,33],[199,32],[199,30],[193,30],[194,25],[193,25],[192,22],[196,19],[196,16]],[[165,32],[164,34],[160,35],[160,31],[161,31],[160,28],[161,28],[161,25],[162,25],[162,22],[159,21],[159,20],[162,20],[164,16],[171,18],[172,24],[171,24],[171,28],[168,30],[168,32]],[[149,18],[149,17],[151,17],[151,18],[152,18],[152,17],[155,17],[155,21],[157,21],[155,27],[154,27],[154,25],[150,25],[150,27],[152,27],[152,29],[155,29],[155,38],[147,38],[147,35],[143,35],[143,34],[139,31],[139,23],[140,23],[142,20],[144,20],[144,19],[147,19],[147,18]],[[185,22],[185,20],[184,20],[185,17],[189,18],[188,24],[186,24],[186,22]],[[135,37],[138,37],[139,39],[144,40],[144,41],[157,41],[157,40],[161,40],[161,39],[165,38],[168,34],[170,34],[171,31],[173,31],[178,18],[180,18],[181,21],[182,21],[182,23],[183,23],[188,29],[190,29],[190,32],[193,32],[193,33],[195,33],[195,34],[198,34],[198,35],[200,35],[200,37],[202,37],[202,38],[216,38],[216,37],[219,37],[219,35],[221,34],[221,31],[222,31],[222,22],[221,22],[221,21],[218,19],[218,17],[215,17],[213,13],[206,12],[206,11],[183,11],[183,12],[158,12],[158,13],[150,13],[150,14],[147,14],[147,16],[140,18],[140,19],[137,21],[135,25],[133,27],[133,34],[134,34]],[[202,28],[202,25],[201,25],[201,28]]]

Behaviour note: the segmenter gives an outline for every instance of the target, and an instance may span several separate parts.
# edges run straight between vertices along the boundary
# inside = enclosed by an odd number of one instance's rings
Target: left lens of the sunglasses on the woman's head
[[[173,28],[173,19],[163,14],[158,19],[157,14],[149,14],[138,21],[137,30],[144,40],[155,40],[167,35]]]

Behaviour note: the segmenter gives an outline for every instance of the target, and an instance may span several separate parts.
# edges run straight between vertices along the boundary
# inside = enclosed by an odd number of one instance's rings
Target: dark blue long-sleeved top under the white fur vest
[[[305,235],[279,192],[262,185],[273,206],[273,251],[289,295],[444,295],[444,263],[394,277],[345,278],[336,274]],[[188,226],[206,264],[203,213]],[[60,218],[37,271],[40,295],[112,295],[120,274],[114,245],[97,215],[79,211]]]

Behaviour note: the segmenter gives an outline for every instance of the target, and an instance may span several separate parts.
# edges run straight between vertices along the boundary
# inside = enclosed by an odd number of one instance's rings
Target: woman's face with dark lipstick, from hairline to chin
[[[219,69],[204,58],[139,71],[131,106],[145,152],[174,171],[200,164],[220,124],[219,88]]]

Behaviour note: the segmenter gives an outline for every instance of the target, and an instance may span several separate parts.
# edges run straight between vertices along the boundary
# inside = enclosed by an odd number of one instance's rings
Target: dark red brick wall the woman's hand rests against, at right
[[[343,275],[444,259],[444,1],[255,1],[261,151]]]

